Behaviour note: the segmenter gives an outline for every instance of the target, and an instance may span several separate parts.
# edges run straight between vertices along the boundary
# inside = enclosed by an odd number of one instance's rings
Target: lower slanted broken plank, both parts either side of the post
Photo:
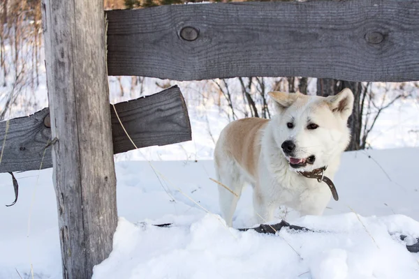
[[[182,92],[177,86],[151,96],[117,103],[115,108],[138,148],[191,140],[191,123]],[[114,154],[135,149],[122,129],[112,105],[110,114]],[[45,108],[31,116],[10,119],[7,135],[6,121],[0,122],[0,153],[6,135],[0,172],[52,167],[51,147],[45,150],[51,140],[50,125],[47,123],[45,126],[44,123],[47,115],[49,109]]]

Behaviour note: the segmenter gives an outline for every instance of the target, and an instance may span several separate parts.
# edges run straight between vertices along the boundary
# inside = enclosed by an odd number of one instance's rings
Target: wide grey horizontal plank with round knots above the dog
[[[419,80],[419,1],[210,3],[110,10],[109,75]],[[199,31],[184,40],[184,27]]]

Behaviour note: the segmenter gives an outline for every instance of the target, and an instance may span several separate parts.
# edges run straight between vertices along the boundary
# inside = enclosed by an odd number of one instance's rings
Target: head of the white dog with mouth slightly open
[[[274,140],[291,167],[311,171],[327,166],[346,149],[347,126],[353,93],[344,89],[335,96],[270,92],[278,114],[272,118]]]

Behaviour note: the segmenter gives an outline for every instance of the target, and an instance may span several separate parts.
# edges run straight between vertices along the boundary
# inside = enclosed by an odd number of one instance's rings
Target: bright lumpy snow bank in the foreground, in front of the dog
[[[354,213],[299,223],[317,221],[334,229],[270,236],[228,229],[211,214],[171,228],[121,218],[114,250],[93,278],[417,278],[418,257],[388,234],[385,218],[364,221],[379,248]]]

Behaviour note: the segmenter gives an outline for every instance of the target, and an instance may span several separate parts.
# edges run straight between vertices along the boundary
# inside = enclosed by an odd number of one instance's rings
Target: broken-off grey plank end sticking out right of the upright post
[[[177,86],[145,98],[116,104],[115,108],[138,148],[191,140],[186,103]],[[134,149],[112,107],[110,112],[114,153]]]

